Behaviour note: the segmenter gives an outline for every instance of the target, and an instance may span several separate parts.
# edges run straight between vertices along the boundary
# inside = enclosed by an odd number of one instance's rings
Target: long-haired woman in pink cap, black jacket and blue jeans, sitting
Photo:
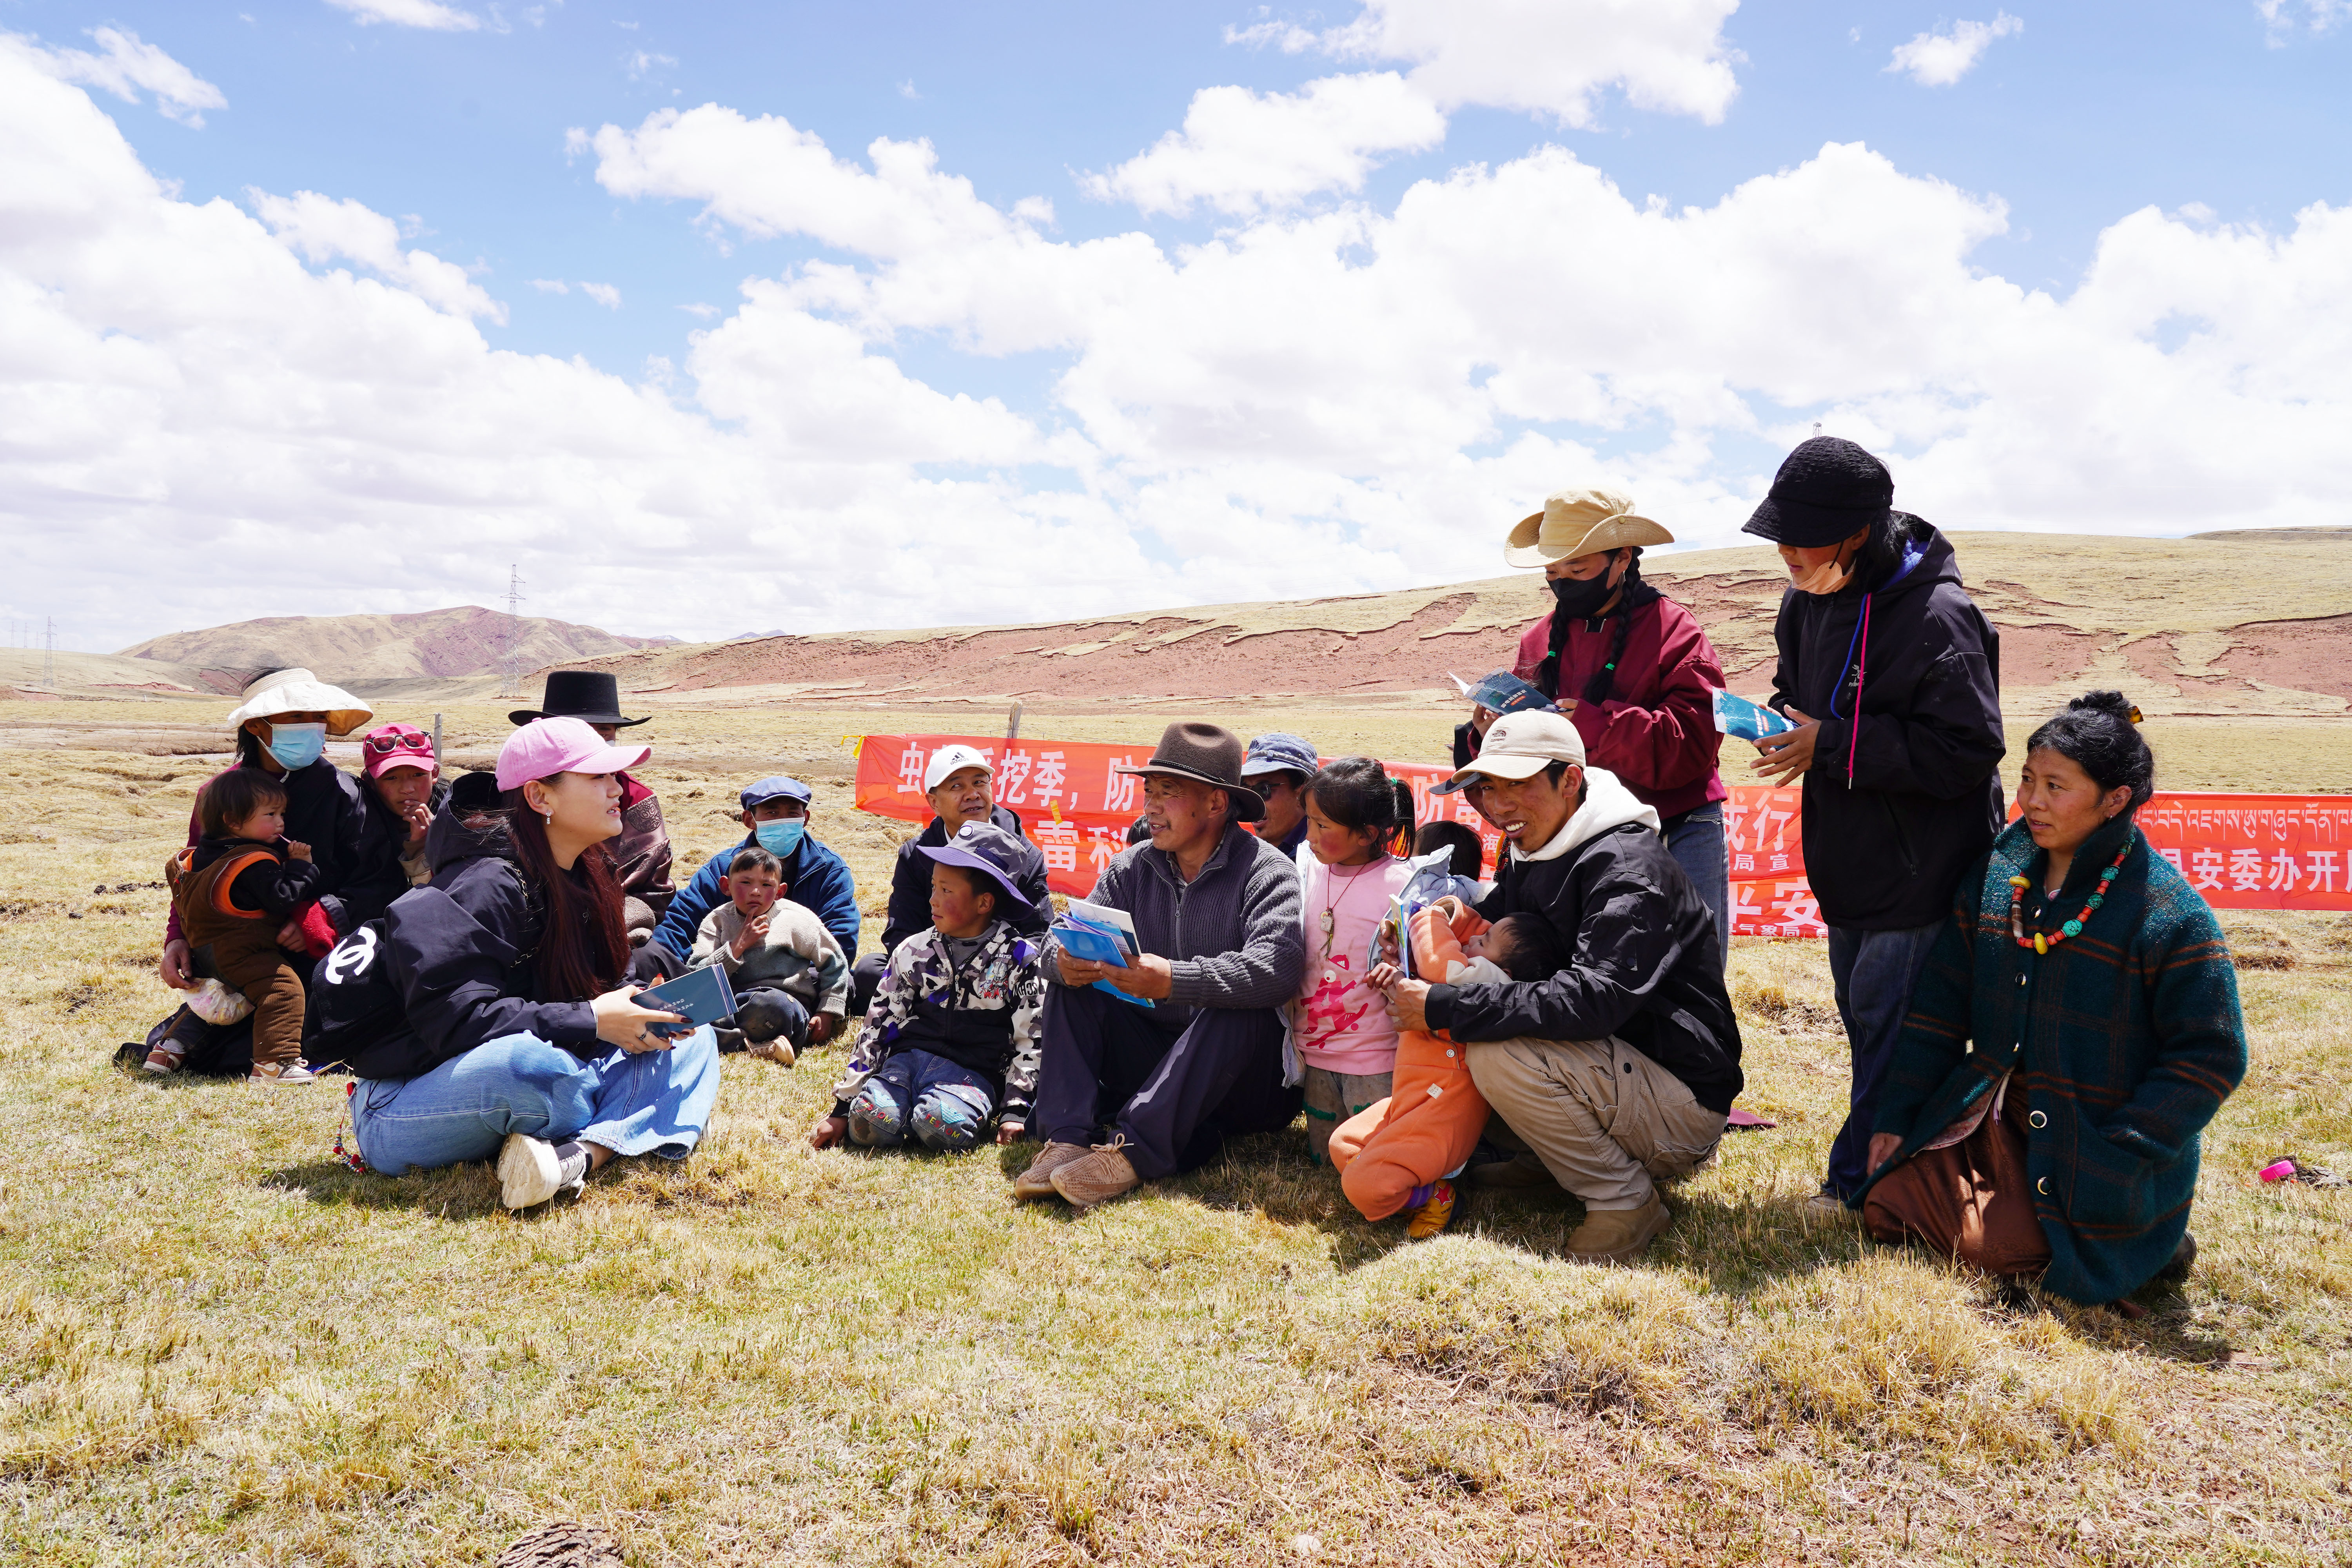
[[[383,922],[405,1018],[348,1053],[369,1168],[496,1154],[501,1201],[529,1208],[614,1154],[694,1152],[720,1088],[717,1039],[708,1027],[654,1034],[684,1020],[637,1006],[637,987],[619,983],[628,936],[604,842],[621,832],[619,773],[649,750],[539,719],[499,752],[496,802],[475,799],[470,780],[452,790],[428,832],[430,886]]]

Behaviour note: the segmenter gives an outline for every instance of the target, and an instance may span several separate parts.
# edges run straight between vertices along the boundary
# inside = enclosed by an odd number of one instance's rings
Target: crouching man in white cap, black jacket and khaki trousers
[[[1446,1030],[1470,1081],[1552,1178],[1585,1201],[1566,1251],[1625,1262],[1670,1222],[1658,1182],[1722,1143],[1740,1091],[1740,1027],[1715,914],[1658,837],[1658,813],[1557,712],[1496,719],[1465,790],[1503,835],[1486,919],[1538,914],[1566,969],[1548,980],[1397,980],[1402,1030]]]

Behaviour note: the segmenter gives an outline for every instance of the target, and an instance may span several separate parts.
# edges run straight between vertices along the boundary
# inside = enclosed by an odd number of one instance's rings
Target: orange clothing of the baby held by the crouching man
[[[1442,976],[1463,961],[1461,938],[1486,922],[1463,910],[1449,926],[1439,910],[1414,917],[1414,973]],[[1367,1220],[1404,1208],[1414,1187],[1461,1168],[1486,1128],[1486,1100],[1470,1084],[1463,1046],[1406,1030],[1397,1037],[1395,1091],[1331,1133],[1341,1192]]]

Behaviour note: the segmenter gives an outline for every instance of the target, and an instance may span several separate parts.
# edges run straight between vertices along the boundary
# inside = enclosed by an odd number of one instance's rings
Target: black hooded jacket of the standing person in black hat
[[[1907,569],[1835,595],[1790,588],[1773,625],[1771,705],[1820,719],[1804,875],[1823,922],[1853,931],[1943,919],[2002,830],[2002,635],[1962,588],[1943,534],[1896,512],[1896,541]],[[1865,602],[1867,642],[1856,635]]]

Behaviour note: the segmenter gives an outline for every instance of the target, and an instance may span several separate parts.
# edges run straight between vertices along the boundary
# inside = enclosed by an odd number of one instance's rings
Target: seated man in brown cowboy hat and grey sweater
[[[1298,1114],[1277,1011],[1308,961],[1298,870],[1244,827],[1263,804],[1242,783],[1240,738],[1169,724],[1150,762],[1120,771],[1143,776],[1152,837],[1103,870],[1094,903],[1124,910],[1143,952],[1117,969],[1054,947],[1030,1117],[1047,1145],[1014,1182],[1014,1197],[1077,1208]]]

